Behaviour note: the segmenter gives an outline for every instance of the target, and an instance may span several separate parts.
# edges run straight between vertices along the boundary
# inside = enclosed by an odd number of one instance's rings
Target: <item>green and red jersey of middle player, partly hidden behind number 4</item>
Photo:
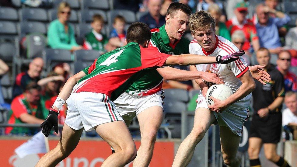
[[[189,44],[185,38],[176,40],[174,44],[170,43],[169,37],[165,30],[165,25],[160,28],[151,30],[152,38],[149,43],[149,48],[155,48],[161,53],[179,55],[189,53]],[[153,58],[154,55],[151,55]],[[145,96],[159,92],[162,89],[163,77],[157,70],[152,70],[146,73],[142,78],[135,81],[126,92],[133,95]]]

